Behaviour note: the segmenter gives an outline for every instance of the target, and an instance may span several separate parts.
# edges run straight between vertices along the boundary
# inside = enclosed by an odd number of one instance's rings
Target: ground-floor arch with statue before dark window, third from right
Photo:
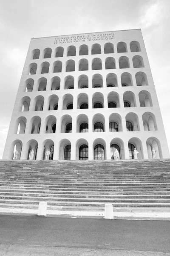
[[[122,139],[114,138],[113,140],[111,140],[110,145],[113,145],[111,147],[111,159],[115,159],[116,160],[116,157],[114,155],[114,151],[115,151],[116,148],[119,151],[120,159],[125,159],[125,145],[124,145],[124,142],[123,142]]]

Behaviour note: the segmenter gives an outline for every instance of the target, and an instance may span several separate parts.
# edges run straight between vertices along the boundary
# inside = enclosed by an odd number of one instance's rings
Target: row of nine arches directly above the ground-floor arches
[[[156,131],[158,130],[156,124],[155,115],[151,112],[145,112],[142,115],[142,121],[144,131]],[[72,117],[70,115],[63,115],[60,119],[60,133],[72,132]],[[85,114],[77,116],[76,120],[76,132],[88,132],[89,119]],[[96,113],[92,117],[93,132],[105,132],[105,122],[109,123],[110,132],[123,131],[122,117],[118,113],[111,113],[108,120],[105,121],[105,116],[101,113]],[[126,131],[140,131],[139,118],[136,113],[130,112],[125,116]],[[24,134],[26,131],[27,119],[24,116],[20,116],[14,126],[14,134]],[[56,126],[59,125],[56,116],[50,115],[45,118],[43,133],[55,133]],[[41,129],[40,116],[33,116],[28,124],[28,133],[39,134]]]

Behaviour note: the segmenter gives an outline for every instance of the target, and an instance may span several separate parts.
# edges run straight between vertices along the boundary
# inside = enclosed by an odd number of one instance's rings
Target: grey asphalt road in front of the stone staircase
[[[48,248],[47,254],[37,254],[35,249]],[[85,218],[53,218],[42,216],[0,215],[0,255],[10,254],[9,248],[27,250],[28,255],[164,255],[170,253],[170,221],[127,221]],[[27,248],[27,249],[26,249]],[[68,253],[56,254],[63,248]],[[54,254],[52,251],[54,250]],[[95,251],[100,251],[95,254]],[[45,251],[45,249],[44,249]],[[71,251],[75,251],[71,254]],[[130,254],[111,254],[111,252]],[[58,251],[59,252],[59,251]],[[106,254],[105,254],[105,253]],[[110,253],[109,253],[110,252]],[[153,252],[153,254],[148,254]],[[12,253],[12,252],[11,252]],[[108,254],[107,254],[108,253]],[[138,255],[138,254],[134,254]],[[140,254],[141,255],[141,254]]]

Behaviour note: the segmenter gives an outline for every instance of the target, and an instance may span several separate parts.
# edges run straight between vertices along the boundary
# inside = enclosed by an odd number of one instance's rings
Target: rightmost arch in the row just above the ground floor
[[[157,131],[157,124],[155,115],[151,112],[145,112],[142,115],[142,120],[144,124],[144,131]]]

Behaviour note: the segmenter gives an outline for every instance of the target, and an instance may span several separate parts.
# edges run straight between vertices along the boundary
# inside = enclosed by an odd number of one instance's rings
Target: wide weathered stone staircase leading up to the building
[[[0,208],[170,207],[170,159],[0,160]]]

